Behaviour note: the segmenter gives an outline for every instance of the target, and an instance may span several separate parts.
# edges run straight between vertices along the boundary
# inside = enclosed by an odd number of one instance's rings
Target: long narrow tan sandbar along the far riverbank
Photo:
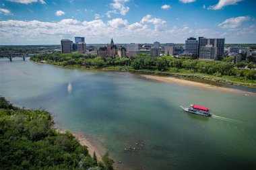
[[[238,89],[231,89],[231,88],[227,88],[227,87],[218,87],[218,86],[215,86],[215,85],[209,85],[209,84],[205,84],[205,83],[199,83],[199,82],[189,81],[189,80],[184,80],[184,79],[177,79],[177,78],[174,78],[174,77],[161,77],[161,76],[156,76],[156,75],[141,75],[141,77],[145,77],[146,79],[152,79],[152,80],[156,80],[156,81],[164,81],[164,82],[168,82],[168,83],[177,83],[177,84],[188,85],[188,86],[192,86],[192,87],[201,87],[201,88],[204,88],[204,89],[214,89],[214,90],[229,91],[229,92],[244,93],[244,94],[255,94],[255,93],[251,93],[251,92],[248,92],[248,91],[242,91],[242,90],[238,90]]]

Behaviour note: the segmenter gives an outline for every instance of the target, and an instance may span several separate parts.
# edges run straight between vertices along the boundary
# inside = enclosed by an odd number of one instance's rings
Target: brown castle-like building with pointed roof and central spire
[[[114,44],[113,39],[111,39],[110,44],[106,44],[106,46],[100,47],[97,51],[97,55],[101,57],[116,56],[117,46]]]

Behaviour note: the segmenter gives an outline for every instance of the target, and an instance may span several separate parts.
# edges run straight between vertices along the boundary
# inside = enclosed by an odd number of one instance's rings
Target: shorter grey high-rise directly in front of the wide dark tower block
[[[212,44],[200,47],[199,59],[216,60],[218,48]]]

